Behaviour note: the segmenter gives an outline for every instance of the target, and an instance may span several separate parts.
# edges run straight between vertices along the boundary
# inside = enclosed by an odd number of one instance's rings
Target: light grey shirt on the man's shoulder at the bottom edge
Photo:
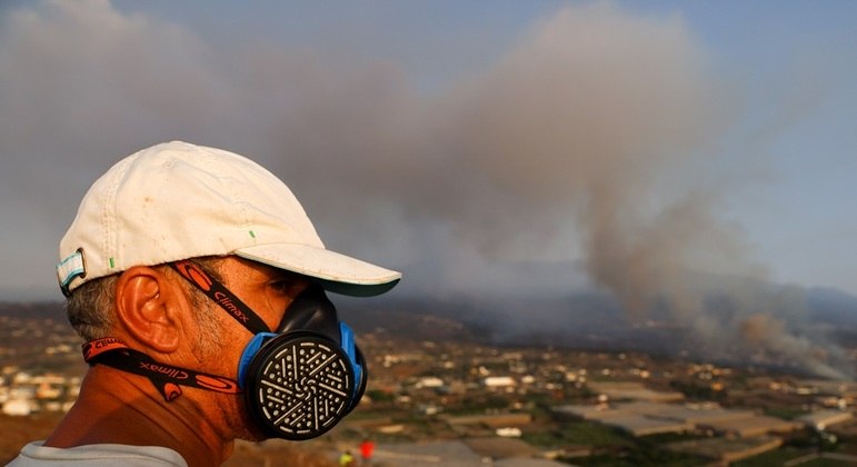
[[[54,448],[36,441],[24,446],[21,454],[8,466],[116,466],[119,463],[123,467],[187,467],[188,465],[178,453],[160,446],[104,444]]]

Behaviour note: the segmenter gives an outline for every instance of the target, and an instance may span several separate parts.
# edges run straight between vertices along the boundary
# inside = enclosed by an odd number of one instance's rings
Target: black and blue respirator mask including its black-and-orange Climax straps
[[[116,338],[87,342],[87,362],[146,376],[167,400],[181,395],[179,386],[243,393],[248,411],[262,431],[291,440],[327,433],[360,401],[366,361],[351,328],[339,321],[321,286],[311,284],[298,295],[271,331],[196,264],[171,266],[253,335],[241,355],[238,381],[157,362]]]

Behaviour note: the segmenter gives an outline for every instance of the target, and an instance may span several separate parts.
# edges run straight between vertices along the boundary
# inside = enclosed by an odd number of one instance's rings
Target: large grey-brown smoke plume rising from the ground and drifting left
[[[29,223],[4,227],[0,252],[49,276],[54,258],[20,246],[56,245],[70,200],[119,157],[183,139],[269,167],[329,246],[405,269],[406,291],[518,290],[525,278],[494,269],[579,257],[586,279],[554,291],[589,281],[631,319],[658,304],[712,351],[741,342],[840,375],[837,349],[793,326],[801,311],[695,279],[764,277],[739,229],[717,217],[723,180],[706,162],[735,96],[707,57],[680,18],[594,3],[534,24],[489,69],[429,96],[391,61],[216,46],[107,0],[10,9],[0,213],[28,212]],[[0,272],[34,286],[17,277]],[[728,312],[707,305],[712,294],[729,297]]]

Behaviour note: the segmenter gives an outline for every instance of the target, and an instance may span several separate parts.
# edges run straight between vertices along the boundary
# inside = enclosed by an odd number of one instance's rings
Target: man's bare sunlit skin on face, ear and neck
[[[223,284],[275,329],[308,282],[299,276],[236,257],[225,258]],[[169,268],[132,267],[117,282],[113,337],[153,359],[237,379],[238,360],[250,331],[207,300],[211,319],[223,329],[212,355],[195,346],[200,326],[185,279]],[[216,342],[217,344],[217,342]],[[147,378],[103,365],[90,367],[80,396],[46,446],[91,444],[163,446],[190,466],[222,464],[233,440],[261,439],[241,395],[182,387],[167,403]]]

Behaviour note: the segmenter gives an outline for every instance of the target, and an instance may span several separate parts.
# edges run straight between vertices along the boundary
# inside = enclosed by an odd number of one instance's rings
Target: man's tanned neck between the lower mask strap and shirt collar
[[[232,440],[215,429],[219,417],[185,394],[167,403],[147,379],[112,368],[91,367],[80,395],[44,446],[93,444],[161,446],[189,466],[222,464]]]

